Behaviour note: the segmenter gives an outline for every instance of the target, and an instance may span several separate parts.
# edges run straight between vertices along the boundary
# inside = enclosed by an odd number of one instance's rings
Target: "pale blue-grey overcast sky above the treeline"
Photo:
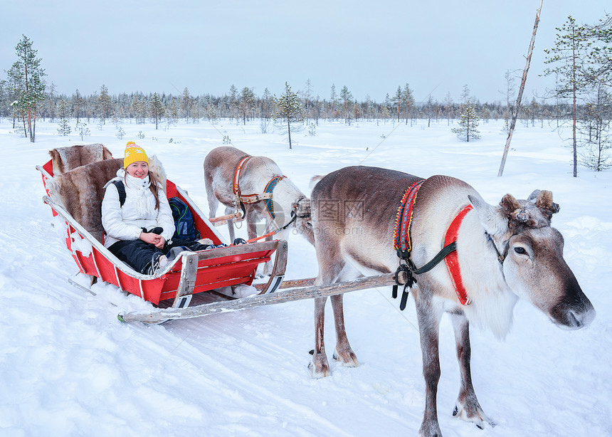
[[[0,78],[31,38],[48,83],[71,95],[304,90],[329,99],[346,85],[377,102],[408,83],[417,101],[505,102],[505,73],[518,87],[539,0],[133,1],[2,0]],[[544,0],[524,101],[542,95],[544,48],[571,16],[595,23],[610,0]]]

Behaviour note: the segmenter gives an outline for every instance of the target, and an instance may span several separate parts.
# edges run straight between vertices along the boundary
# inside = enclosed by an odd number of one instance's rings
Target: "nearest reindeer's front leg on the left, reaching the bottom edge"
[[[422,288],[419,287],[421,290]],[[416,315],[418,331],[421,335],[421,353],[423,354],[423,377],[425,377],[425,413],[418,430],[420,437],[441,437],[438,423],[438,381],[440,380],[440,351],[438,349],[440,310],[424,297],[421,290],[416,298]]]

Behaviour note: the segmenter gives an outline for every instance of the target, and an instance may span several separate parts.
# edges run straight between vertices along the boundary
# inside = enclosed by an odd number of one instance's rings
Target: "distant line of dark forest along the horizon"
[[[359,102],[349,96],[342,97],[342,92],[334,98],[312,99],[305,93],[298,92],[301,102],[302,118],[305,122],[317,124],[320,120],[344,121],[346,123],[370,120],[397,120],[411,123],[416,120],[453,120],[460,117],[462,106],[468,100],[480,120],[509,120],[512,116],[512,104],[503,105],[500,102],[480,103],[475,98],[464,96],[463,102],[453,102],[447,98],[444,102],[430,99],[415,103],[409,88],[398,89],[393,97],[387,96],[384,102],[365,100]],[[465,90],[464,90],[465,92]],[[408,96],[406,97],[406,93]],[[0,96],[0,117],[11,119],[14,127],[19,129],[21,117],[11,110],[9,95]],[[74,120],[75,122],[92,123],[107,121],[131,120],[144,124],[146,122],[166,122],[174,124],[179,120],[199,122],[208,120],[216,122],[220,119],[233,119],[246,123],[249,120],[271,120],[275,113],[277,99],[267,93],[255,96],[250,88],[231,92],[221,97],[205,94],[192,96],[188,89],[181,95],[157,93],[121,93],[110,95],[102,85],[100,93],[81,95],[78,90],[73,95],[46,95],[38,102],[36,117],[40,120],[60,122]],[[579,106],[579,112],[588,112],[586,105]],[[602,114],[608,120],[612,118],[612,107],[608,106]],[[572,116],[571,102],[556,101],[554,104],[538,102],[535,98],[529,103],[523,103],[519,110],[519,120],[523,122],[541,123],[544,120],[569,120]]]

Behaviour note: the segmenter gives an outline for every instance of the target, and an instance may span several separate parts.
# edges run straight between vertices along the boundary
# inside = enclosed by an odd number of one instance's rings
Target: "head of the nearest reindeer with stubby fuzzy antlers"
[[[532,302],[556,325],[578,329],[595,310],[563,258],[564,240],[550,226],[559,205],[550,191],[534,191],[527,200],[506,194],[500,206],[470,196],[480,223],[500,256],[502,272],[513,293]]]

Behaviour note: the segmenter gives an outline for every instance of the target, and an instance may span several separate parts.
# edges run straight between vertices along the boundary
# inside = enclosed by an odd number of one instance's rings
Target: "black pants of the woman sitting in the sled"
[[[170,249],[179,246],[184,246],[190,251],[204,251],[210,247],[197,241],[172,240],[172,244],[166,243],[164,248],[158,249],[153,244],[144,243],[142,240],[123,240],[113,243],[108,250],[137,272],[146,275],[160,256],[166,255]]]

